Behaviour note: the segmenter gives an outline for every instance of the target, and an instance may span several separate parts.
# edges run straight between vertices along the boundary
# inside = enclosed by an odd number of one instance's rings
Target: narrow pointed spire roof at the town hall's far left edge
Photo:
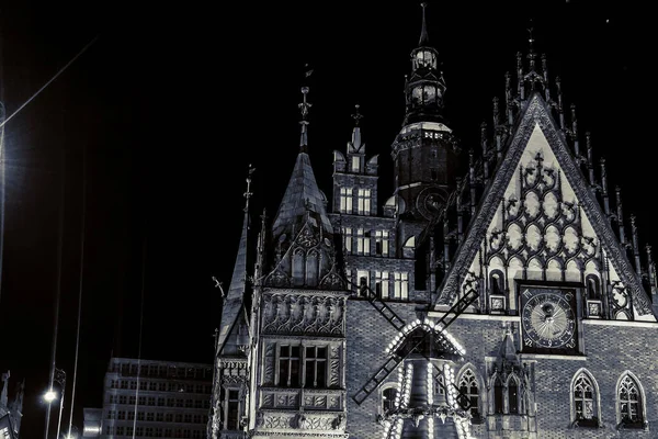
[[[245,218],[242,219],[242,234],[240,236],[240,243],[238,245],[238,255],[236,257],[236,263],[234,266],[232,277],[230,279],[230,285],[228,293],[224,297],[222,306],[222,329],[218,334],[217,339],[217,353],[224,350],[224,346],[227,344],[229,335],[236,325],[236,322],[240,317],[240,309],[243,308],[245,304],[245,291],[247,288],[247,239],[249,235],[249,199],[252,193],[250,192],[251,175],[256,169],[249,165],[249,176],[247,177],[247,191],[245,198],[247,199],[245,204]]]

